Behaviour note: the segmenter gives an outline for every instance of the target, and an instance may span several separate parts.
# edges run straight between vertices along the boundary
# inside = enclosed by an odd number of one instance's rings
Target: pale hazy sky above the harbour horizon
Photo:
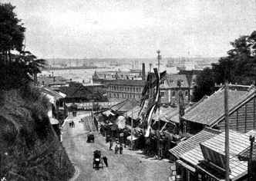
[[[39,58],[224,56],[256,30],[255,0],[0,0]]]

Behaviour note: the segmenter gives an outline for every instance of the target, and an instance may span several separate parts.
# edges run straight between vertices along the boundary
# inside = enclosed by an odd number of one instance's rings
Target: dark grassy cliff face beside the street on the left
[[[0,179],[68,180],[74,173],[33,87],[0,92]]]

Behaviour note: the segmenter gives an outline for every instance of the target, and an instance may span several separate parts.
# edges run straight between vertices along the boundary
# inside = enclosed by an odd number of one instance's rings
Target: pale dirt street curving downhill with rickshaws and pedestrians
[[[65,146],[70,160],[76,167],[72,180],[168,180],[171,163],[168,160],[147,158],[140,150],[124,148],[123,154],[115,154],[109,150],[109,143],[99,133],[94,133],[95,142],[86,143],[89,133],[80,122],[81,117],[68,117],[62,128],[62,144]],[[69,121],[74,121],[75,127],[69,127]],[[116,143],[113,143],[113,147]],[[93,151],[100,150],[102,156],[108,159],[99,170],[93,169]]]

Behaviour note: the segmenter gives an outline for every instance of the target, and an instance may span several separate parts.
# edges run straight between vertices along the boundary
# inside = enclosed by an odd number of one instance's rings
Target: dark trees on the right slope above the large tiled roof
[[[200,100],[206,94],[213,93],[214,83],[221,84],[228,81],[233,84],[255,84],[256,31],[249,36],[244,35],[237,38],[231,42],[231,45],[233,49],[227,51],[227,57],[220,58],[216,64],[212,64],[210,70],[209,68],[204,69],[197,76],[194,101]]]

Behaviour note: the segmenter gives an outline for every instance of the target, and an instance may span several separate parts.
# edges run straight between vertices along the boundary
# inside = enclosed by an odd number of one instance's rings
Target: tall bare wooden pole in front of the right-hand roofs
[[[224,110],[225,110],[225,156],[226,156],[226,166],[225,166],[225,180],[229,181],[229,123],[228,123],[228,84],[225,81],[224,85]]]

